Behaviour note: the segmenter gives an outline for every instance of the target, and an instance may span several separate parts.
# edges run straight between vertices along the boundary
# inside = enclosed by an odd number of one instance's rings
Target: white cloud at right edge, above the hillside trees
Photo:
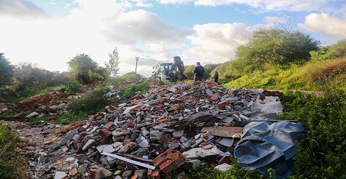
[[[340,19],[326,13],[309,14],[305,17],[305,22],[299,23],[298,27],[337,41],[346,38],[346,19]]]

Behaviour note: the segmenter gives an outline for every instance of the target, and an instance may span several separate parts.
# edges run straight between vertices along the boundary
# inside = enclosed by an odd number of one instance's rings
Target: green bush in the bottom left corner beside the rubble
[[[16,151],[21,139],[0,123],[0,179],[19,179],[23,177],[21,165],[23,157]]]

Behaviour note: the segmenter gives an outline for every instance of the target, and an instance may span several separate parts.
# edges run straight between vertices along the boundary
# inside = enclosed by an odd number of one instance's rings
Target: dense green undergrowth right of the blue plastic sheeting
[[[297,178],[346,178],[346,91],[330,84],[323,88],[323,97],[290,92],[283,100],[281,119],[295,119],[305,127],[294,157]]]

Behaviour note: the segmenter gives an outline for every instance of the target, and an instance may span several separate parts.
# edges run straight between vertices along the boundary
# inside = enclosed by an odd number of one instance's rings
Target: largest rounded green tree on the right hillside
[[[236,48],[238,71],[263,70],[266,65],[280,65],[298,59],[309,59],[310,51],[318,50],[321,42],[300,30],[256,29],[245,45]]]

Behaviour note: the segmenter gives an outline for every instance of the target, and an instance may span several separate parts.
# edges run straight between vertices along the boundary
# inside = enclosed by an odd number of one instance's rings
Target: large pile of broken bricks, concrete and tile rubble
[[[71,126],[12,128],[37,134],[20,146],[31,158],[31,178],[160,179],[201,162],[226,170],[243,127],[260,113],[253,104],[263,92],[214,82],[149,87]]]

